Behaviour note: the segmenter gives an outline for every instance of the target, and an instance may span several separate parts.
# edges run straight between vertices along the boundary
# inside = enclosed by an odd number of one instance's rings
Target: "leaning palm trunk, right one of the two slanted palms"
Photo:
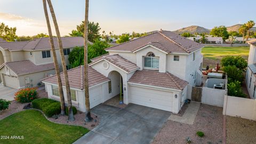
[[[61,64],[62,64],[62,68],[63,68],[63,74],[64,74],[64,77],[65,77],[65,85],[66,85],[66,91],[67,91],[68,120],[69,121],[75,121],[75,117],[74,117],[73,109],[72,109],[71,93],[70,93],[70,86],[69,86],[69,81],[68,81],[68,72],[67,72],[67,67],[66,67],[66,62],[65,62],[61,37],[60,37],[60,30],[59,30],[59,26],[58,26],[58,23],[57,23],[57,19],[55,17],[52,2],[51,2],[51,0],[47,0],[47,2],[48,2],[48,5],[49,5],[49,8],[50,8],[50,12],[51,12],[51,15],[52,15],[52,20],[53,20],[53,23],[54,23],[54,27],[55,27],[55,31],[56,31],[57,38],[58,38],[58,43],[59,43],[60,58],[61,58]]]

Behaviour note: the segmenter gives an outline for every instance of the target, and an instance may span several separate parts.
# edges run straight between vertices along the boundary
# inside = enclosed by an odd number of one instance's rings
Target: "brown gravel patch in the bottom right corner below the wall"
[[[227,143],[256,143],[256,121],[226,116]]]

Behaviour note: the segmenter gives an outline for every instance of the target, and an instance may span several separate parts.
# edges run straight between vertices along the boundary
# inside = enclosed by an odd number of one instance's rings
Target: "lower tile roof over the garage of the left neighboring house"
[[[4,63],[4,65],[10,68],[18,76],[37,73],[45,70],[51,70],[55,68],[53,63],[35,65],[30,60],[6,62]]]

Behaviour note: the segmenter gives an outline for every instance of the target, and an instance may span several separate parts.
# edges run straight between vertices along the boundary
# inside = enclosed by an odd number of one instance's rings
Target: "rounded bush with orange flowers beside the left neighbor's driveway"
[[[31,102],[37,98],[37,94],[35,88],[21,89],[15,93],[15,100],[21,103]]]

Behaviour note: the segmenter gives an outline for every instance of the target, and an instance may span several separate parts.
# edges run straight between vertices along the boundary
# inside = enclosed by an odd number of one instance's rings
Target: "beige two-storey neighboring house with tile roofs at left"
[[[57,59],[62,69],[57,37],[54,37]],[[83,37],[62,37],[66,64],[76,46],[83,46]],[[0,42],[0,82],[14,89],[33,87],[42,78],[55,74],[49,38],[27,42]]]

